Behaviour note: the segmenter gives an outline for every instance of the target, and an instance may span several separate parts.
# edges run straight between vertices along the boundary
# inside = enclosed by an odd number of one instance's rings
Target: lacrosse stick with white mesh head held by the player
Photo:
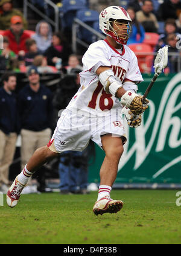
[[[167,63],[168,63],[168,45],[165,45],[163,48],[160,48],[160,50],[157,53],[156,59],[154,60],[154,66],[153,66],[154,77],[151,79],[150,85],[148,85],[148,88],[146,89],[142,97],[142,102],[144,102],[152,86],[154,85],[156,78],[159,76],[160,72],[162,72],[162,70],[167,66]]]

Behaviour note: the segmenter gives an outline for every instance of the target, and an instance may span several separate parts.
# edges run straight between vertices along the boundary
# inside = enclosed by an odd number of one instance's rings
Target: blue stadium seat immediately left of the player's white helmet
[[[77,11],[76,18],[80,19],[80,21],[84,22],[86,25],[89,25],[91,28],[97,28],[100,32],[100,29],[96,26],[98,26],[99,21],[99,13],[95,10],[85,9]],[[86,28],[83,28],[80,26],[78,31],[78,38],[81,40],[84,40],[86,43],[92,43],[94,34],[92,34],[90,31],[86,30]]]

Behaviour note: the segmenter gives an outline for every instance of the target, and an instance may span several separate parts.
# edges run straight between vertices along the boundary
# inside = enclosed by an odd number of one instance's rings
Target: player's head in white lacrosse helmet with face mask
[[[100,13],[100,30],[115,39],[116,43],[125,45],[131,33],[132,19],[120,6],[110,6]]]

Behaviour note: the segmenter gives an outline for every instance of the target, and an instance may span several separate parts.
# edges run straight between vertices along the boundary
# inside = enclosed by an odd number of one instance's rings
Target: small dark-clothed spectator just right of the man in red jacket
[[[32,38],[28,38],[25,42],[27,53],[25,54],[24,60],[25,65],[30,66],[33,63],[34,57],[40,54],[40,52],[37,50],[37,44],[36,40]]]

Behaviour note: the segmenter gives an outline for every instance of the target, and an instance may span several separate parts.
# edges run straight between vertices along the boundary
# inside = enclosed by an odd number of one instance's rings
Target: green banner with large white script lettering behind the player
[[[144,74],[139,92],[144,94],[153,74]],[[181,72],[160,74],[148,95],[149,108],[138,128],[124,120],[127,142],[119,162],[118,183],[181,182]],[[104,152],[97,145],[89,167],[89,182],[100,182]]]

